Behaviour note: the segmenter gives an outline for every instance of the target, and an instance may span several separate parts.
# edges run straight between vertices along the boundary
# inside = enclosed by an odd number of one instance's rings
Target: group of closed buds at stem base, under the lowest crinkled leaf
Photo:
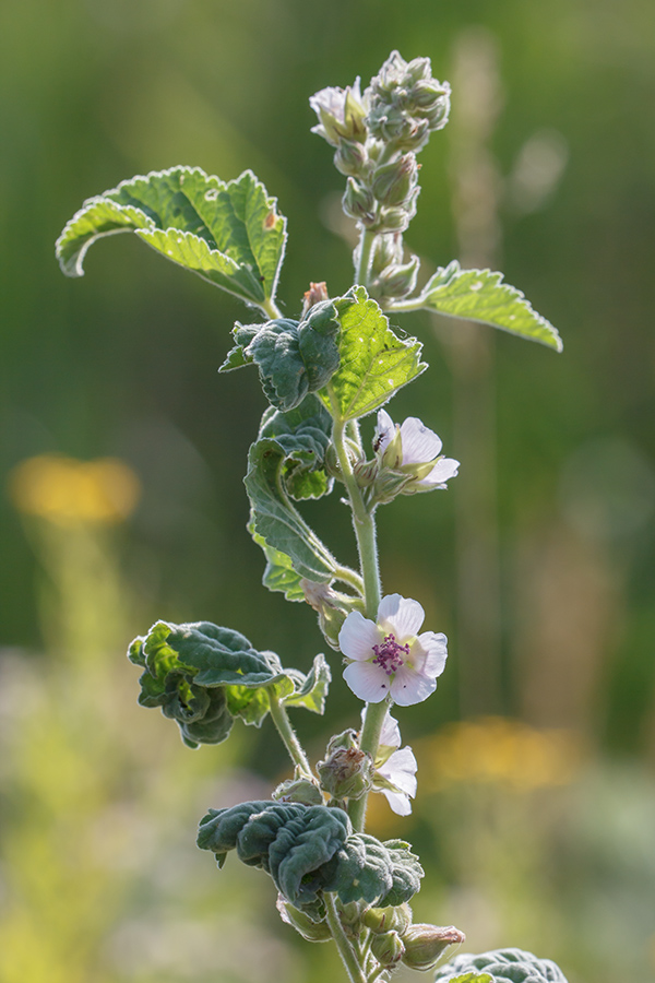
[[[361,923],[372,933],[371,952],[385,968],[403,962],[415,970],[430,970],[451,946],[461,945],[464,933],[454,925],[412,924],[408,904],[369,908]]]

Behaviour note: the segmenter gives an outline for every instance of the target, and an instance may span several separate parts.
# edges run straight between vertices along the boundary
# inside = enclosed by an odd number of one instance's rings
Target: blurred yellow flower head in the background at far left
[[[122,522],[139,501],[141,484],[118,458],[78,461],[39,454],[14,467],[9,490],[21,512],[70,526]]]

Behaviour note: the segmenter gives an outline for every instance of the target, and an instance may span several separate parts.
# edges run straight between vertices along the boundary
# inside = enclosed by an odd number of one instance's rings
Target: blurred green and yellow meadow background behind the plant
[[[309,281],[345,292],[343,178],[307,99],[398,48],[453,83],[409,247],[424,271],[502,269],[565,347],[398,318],[431,367],[392,414],[421,416],[462,473],[380,510],[385,588],[451,654],[437,697],[398,713],[414,815],[376,802],[372,831],[412,840],[417,919],[468,949],[653,983],[653,4],[22,0],[0,37],[0,979],[341,979],[264,875],[194,848],[207,806],[285,774],[270,722],[187,750],[135,707],[123,655],[157,617],[228,624],[301,667],[323,648],[308,607],[261,588],[243,529],[264,403],[253,372],[216,368],[247,312],[130,236],[67,281],[53,241],[133,174],[251,167],[289,221],[285,311]],[[314,512],[352,560],[337,497]],[[297,719],[314,757],[359,713],[332,661],[329,716]]]

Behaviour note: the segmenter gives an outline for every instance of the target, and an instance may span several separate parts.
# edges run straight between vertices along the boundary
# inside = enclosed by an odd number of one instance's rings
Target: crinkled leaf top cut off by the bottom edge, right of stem
[[[555,962],[537,959],[523,949],[495,949],[479,956],[462,954],[439,967],[434,983],[468,983],[468,979],[475,983],[567,983]]]

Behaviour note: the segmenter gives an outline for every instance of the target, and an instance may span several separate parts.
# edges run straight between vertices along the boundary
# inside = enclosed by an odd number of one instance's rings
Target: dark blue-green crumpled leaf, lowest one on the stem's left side
[[[321,868],[352,832],[343,809],[299,803],[242,803],[210,809],[200,822],[198,845],[223,856],[237,850],[249,866],[262,867],[296,907],[317,901]]]

